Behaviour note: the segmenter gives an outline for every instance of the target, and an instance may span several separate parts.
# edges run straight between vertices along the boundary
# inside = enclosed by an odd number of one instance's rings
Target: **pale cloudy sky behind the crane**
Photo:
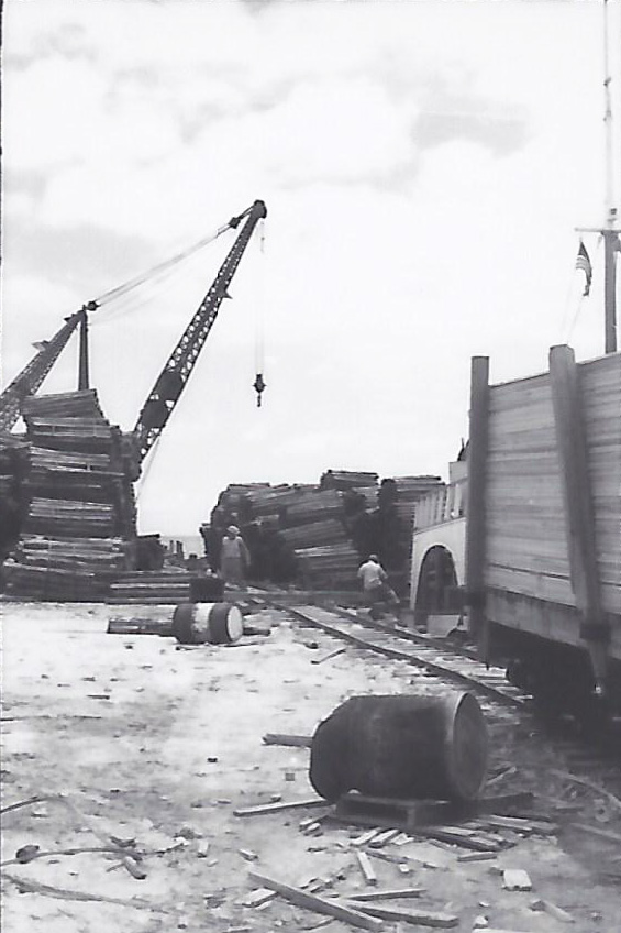
[[[3,20],[4,384],[64,315],[267,204],[145,463],[143,531],[193,533],[230,482],[445,475],[472,355],[500,382],[555,343],[603,352],[597,235],[581,303],[574,268],[605,216],[599,0],[5,0]],[[92,316],[112,422],[133,428],[233,239]],[[71,344],[44,387],[75,380]]]

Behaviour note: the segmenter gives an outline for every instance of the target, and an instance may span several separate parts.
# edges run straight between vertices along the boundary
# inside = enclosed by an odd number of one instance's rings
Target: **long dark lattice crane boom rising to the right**
[[[245,223],[220,266],[209,292],[159,373],[136,421],[134,438],[137,442],[141,460],[144,460],[173,414],[218,316],[220,305],[226,296],[226,289],[252,233],[257,222],[266,216],[267,209],[264,201],[256,200],[252,207],[229,221],[229,227],[235,229],[245,219]]]

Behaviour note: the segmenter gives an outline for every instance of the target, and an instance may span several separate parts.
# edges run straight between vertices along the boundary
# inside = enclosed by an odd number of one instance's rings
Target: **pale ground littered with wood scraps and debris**
[[[23,645],[3,698],[5,863],[38,846],[2,865],[15,930],[43,920],[46,933],[79,933],[93,918],[124,933],[143,933],[145,921],[165,924],[154,933],[616,929],[601,853],[621,839],[618,810],[599,780],[553,775],[536,734],[518,740],[486,705],[500,780],[472,806],[384,800],[372,812],[356,791],[331,803],[309,781],[322,717],[365,690],[437,693],[433,678],[417,673],[412,685],[411,668],[353,649],[310,666],[308,633],[295,625],[244,652],[176,654],[169,638],[108,638],[108,622],[103,607],[10,608],[9,636]],[[318,659],[333,650],[329,635],[317,643]],[[88,657],[86,670],[74,673],[75,657]],[[89,690],[112,698],[97,717],[84,711]],[[520,866],[530,887],[502,887]]]

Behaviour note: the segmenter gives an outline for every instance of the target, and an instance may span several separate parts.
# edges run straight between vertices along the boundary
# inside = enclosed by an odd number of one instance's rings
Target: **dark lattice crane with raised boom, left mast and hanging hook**
[[[173,414],[173,409],[179,400],[198,355],[215,321],[220,305],[228,297],[226,289],[231,284],[231,279],[235,274],[252,233],[257,222],[265,217],[267,217],[265,202],[255,200],[245,211],[236,217],[232,217],[229,223],[219,231],[220,233],[230,228],[236,229],[245,220],[235,242],[220,266],[212,285],[166,361],[140,413],[133,433],[140,451],[141,461],[144,460],[160,436],[168,418]],[[24,399],[30,395],[34,395],[41,387],[78,325],[80,326],[81,338],[78,387],[80,389],[88,388],[87,315],[89,311],[97,310],[99,305],[99,301],[89,301],[79,311],[65,318],[65,325],[51,340],[43,341],[36,356],[7,386],[0,395],[0,430],[10,431],[16,424]],[[260,373],[257,374],[254,388],[257,393],[258,404],[260,404],[260,394],[265,389],[265,383]]]

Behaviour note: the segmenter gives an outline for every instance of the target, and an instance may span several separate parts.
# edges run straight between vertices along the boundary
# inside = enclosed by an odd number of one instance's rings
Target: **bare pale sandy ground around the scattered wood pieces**
[[[363,890],[351,846],[359,828],[330,824],[321,835],[306,836],[300,821],[323,811],[237,817],[233,810],[314,795],[308,749],[266,746],[265,733],[310,735],[347,696],[437,691],[433,679],[353,648],[311,665],[336,643],[282,622],[281,614],[258,614],[274,625],[268,637],[184,648],[171,638],[106,634],[110,617],[165,618],[171,610],[5,603],[0,611],[2,805],[63,793],[79,811],[47,800],[3,816],[7,933],[353,929],[280,898],[263,908],[243,901],[259,887],[248,879],[253,869],[293,885],[324,878],[342,893]],[[545,787],[567,800],[567,789],[554,787],[547,776],[563,762],[546,756],[529,727],[509,728],[508,722],[502,713],[489,714],[491,771],[511,761],[519,766],[495,791]],[[578,812],[572,820],[599,820],[596,825],[619,832],[621,813],[592,794],[573,791],[573,798]],[[45,852],[100,847],[93,828],[136,839],[148,853],[147,877],[134,879],[114,855],[100,852],[5,864],[29,844]],[[488,927],[528,933],[621,930],[619,888],[607,882],[603,870],[621,868],[618,845],[569,828],[557,836],[512,838],[513,847],[478,863],[458,861],[463,850],[455,847],[411,843],[400,854],[410,852],[435,867],[412,863],[403,874],[396,864],[374,859],[378,885],[423,887],[418,901],[399,905],[455,913],[461,933],[469,933],[477,918]],[[502,888],[500,869],[511,867],[528,870],[531,891]],[[11,880],[20,878],[133,902],[20,892]],[[537,909],[541,900],[568,911],[574,925]],[[385,927],[404,929],[389,922]]]

